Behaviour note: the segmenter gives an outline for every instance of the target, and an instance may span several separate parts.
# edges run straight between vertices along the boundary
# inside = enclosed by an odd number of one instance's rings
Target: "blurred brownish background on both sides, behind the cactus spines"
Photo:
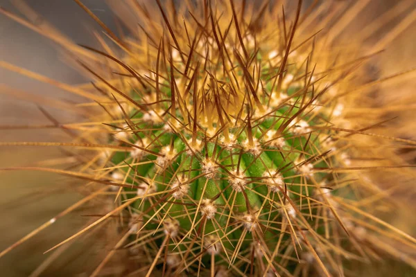
[[[122,0],[110,0],[122,1]],[[403,0],[407,1],[407,0]],[[414,0],[408,0],[414,1]],[[0,0],[0,6],[21,15],[12,4],[19,1]],[[97,46],[92,30],[99,30],[93,21],[80,7],[71,0],[25,0],[46,21],[67,35],[78,44]],[[306,1],[307,2],[307,1]],[[370,5],[357,17],[356,23],[347,29],[349,35],[354,35],[363,22],[376,18],[399,0],[372,0]],[[115,30],[114,14],[104,0],[83,0],[107,26]],[[307,4],[307,3],[306,3]],[[37,18],[42,24],[42,18]],[[392,22],[395,24],[395,22]],[[381,75],[395,73],[402,69],[416,66],[416,24],[406,28],[404,32],[388,47],[379,63]],[[382,36],[383,33],[376,34]],[[68,84],[88,82],[62,59],[58,47],[33,30],[16,23],[12,19],[0,15],[0,60],[23,66],[49,78]],[[60,91],[56,87],[37,82],[0,68],[0,125],[48,124],[49,120],[42,114],[33,99],[22,91],[33,96],[45,96],[51,99],[66,101],[76,100],[73,95]],[[409,80],[406,86],[400,87],[395,93],[413,93],[415,81]],[[8,92],[8,93],[5,93]],[[10,96],[10,92],[12,96]],[[70,111],[45,109],[61,123],[68,123],[76,118]],[[410,121],[415,120],[415,114],[410,114]],[[409,132],[408,139],[415,139],[416,132]],[[43,129],[8,130],[0,129],[0,141],[64,141],[69,137],[61,130]],[[0,168],[22,166],[33,161],[58,157],[60,150],[55,148],[0,148]],[[24,164],[22,164],[24,161]],[[42,172],[0,172],[0,251],[9,247],[24,235],[55,216],[67,206],[80,199],[80,195],[69,193],[67,183],[63,177]],[[408,196],[408,195],[407,195]],[[411,195],[410,199],[415,199]],[[415,235],[415,230],[409,229],[408,222],[413,217],[414,210],[397,213],[396,226]],[[1,276],[29,276],[40,265],[42,260],[50,254],[42,255],[43,251],[53,247],[56,243],[67,238],[85,223],[85,219],[68,216],[64,221],[57,222],[57,226],[46,229],[35,238],[17,247],[8,255],[0,259]],[[412,226],[412,225],[410,225]],[[36,254],[35,254],[36,253]],[[73,265],[85,265],[85,261],[76,258],[74,252],[70,265],[56,264],[55,268],[62,268],[60,276],[79,275]],[[416,276],[415,271],[397,262],[383,262],[376,265],[365,265],[360,271],[361,276]],[[49,271],[41,276],[56,276]],[[77,275],[78,274],[78,275]]]

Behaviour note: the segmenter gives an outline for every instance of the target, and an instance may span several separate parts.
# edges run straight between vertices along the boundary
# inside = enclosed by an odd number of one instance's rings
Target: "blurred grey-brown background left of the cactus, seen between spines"
[[[0,6],[19,14],[12,1],[0,0]],[[112,14],[104,1],[83,1],[110,27],[114,26]],[[97,29],[95,22],[80,10],[71,0],[27,0],[31,8],[44,19],[73,39],[74,42],[96,46],[92,30]],[[42,20],[42,19],[39,19]],[[88,80],[67,66],[62,60],[62,53],[49,39],[17,24],[8,17],[0,15],[0,60],[23,66],[24,68],[46,75],[49,78],[78,84]],[[49,96],[52,99],[73,100],[73,96],[56,87],[24,78],[17,73],[0,69],[0,84],[27,91],[35,96]],[[62,123],[71,122],[74,114],[44,106]],[[0,125],[49,124],[37,105],[28,100],[6,96],[0,93]],[[69,140],[62,131],[45,129],[35,130],[0,130],[0,141],[62,141]],[[40,161],[60,154],[55,148],[1,148],[0,167],[21,166],[33,161]],[[0,172],[0,249],[10,244],[43,224],[51,217],[75,203],[80,196],[68,193],[63,177],[40,172]],[[65,190],[65,193],[63,193]],[[64,217],[56,226],[42,231],[33,240],[22,244],[17,249],[0,259],[0,276],[29,276],[40,262],[49,254],[42,255],[54,244],[67,238],[76,231],[85,219]],[[83,265],[83,261],[73,258],[71,265]],[[71,265],[62,267],[59,276],[75,276],[77,271]],[[57,276],[48,274],[41,276]]]

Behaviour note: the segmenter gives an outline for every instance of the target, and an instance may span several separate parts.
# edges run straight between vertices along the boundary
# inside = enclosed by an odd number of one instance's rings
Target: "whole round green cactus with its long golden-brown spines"
[[[119,215],[114,245],[139,257],[146,276],[331,276],[343,260],[397,256],[380,235],[415,249],[359,204],[379,193],[356,173],[374,166],[352,159],[354,146],[376,141],[352,139],[366,133],[345,111],[360,99],[351,87],[366,82],[359,51],[305,26],[313,16],[301,3],[291,20],[268,2],[157,6],[162,26],[137,8],[148,16],[140,41],[109,31],[123,58],[77,46],[115,73],[81,62],[96,77],[96,92],[83,96],[97,105],[67,146],[94,151],[78,172],[50,171],[119,201],[80,233]]]

